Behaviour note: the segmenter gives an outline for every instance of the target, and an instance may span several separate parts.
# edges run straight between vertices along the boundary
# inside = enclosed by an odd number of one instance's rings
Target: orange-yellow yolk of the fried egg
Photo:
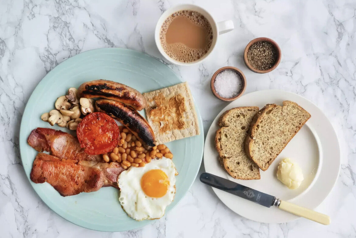
[[[163,197],[167,193],[168,186],[168,176],[162,170],[150,170],[141,178],[143,192],[152,198]]]

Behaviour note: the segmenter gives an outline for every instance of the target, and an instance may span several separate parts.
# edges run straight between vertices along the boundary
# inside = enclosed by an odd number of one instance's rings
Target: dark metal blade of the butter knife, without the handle
[[[200,181],[202,183],[208,184],[211,187],[218,188],[225,192],[239,196],[240,198],[253,201],[262,206],[271,207],[276,200],[276,197],[273,197],[269,194],[262,193],[255,189],[232,182],[228,179],[212,175],[211,173],[202,173],[200,175]]]

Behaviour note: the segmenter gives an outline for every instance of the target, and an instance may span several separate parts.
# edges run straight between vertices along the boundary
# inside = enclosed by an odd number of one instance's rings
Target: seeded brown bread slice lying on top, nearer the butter
[[[309,118],[310,114],[292,101],[283,101],[283,107],[267,104],[251,122],[246,154],[266,171]]]

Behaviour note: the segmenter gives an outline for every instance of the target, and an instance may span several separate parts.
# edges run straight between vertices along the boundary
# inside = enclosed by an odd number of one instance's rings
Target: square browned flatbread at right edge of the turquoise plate
[[[147,121],[158,144],[199,135],[199,124],[188,83],[179,83],[145,96]]]

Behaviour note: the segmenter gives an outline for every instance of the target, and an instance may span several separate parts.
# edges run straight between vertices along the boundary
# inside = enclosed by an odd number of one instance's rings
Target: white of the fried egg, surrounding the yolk
[[[161,198],[149,197],[141,188],[142,176],[150,170],[162,170],[169,179],[167,193]],[[123,171],[117,183],[120,188],[120,204],[127,215],[141,221],[147,219],[157,219],[164,215],[166,207],[172,203],[176,193],[176,166],[171,159],[165,157],[153,159],[145,167],[133,167]]]

